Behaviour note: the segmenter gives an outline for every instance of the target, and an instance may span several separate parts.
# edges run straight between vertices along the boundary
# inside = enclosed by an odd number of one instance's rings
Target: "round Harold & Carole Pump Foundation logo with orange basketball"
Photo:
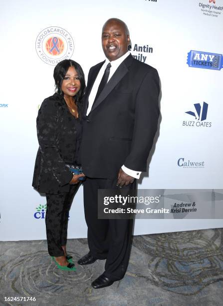
[[[59,26],[49,26],[38,34],[35,41],[36,52],[45,63],[56,65],[73,54],[73,38],[67,30]]]

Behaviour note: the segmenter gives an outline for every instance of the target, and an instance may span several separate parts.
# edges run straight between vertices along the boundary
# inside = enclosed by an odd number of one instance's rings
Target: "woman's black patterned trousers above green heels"
[[[79,183],[70,185],[69,192],[46,193],[46,238],[50,256],[63,256],[66,245],[69,210]]]

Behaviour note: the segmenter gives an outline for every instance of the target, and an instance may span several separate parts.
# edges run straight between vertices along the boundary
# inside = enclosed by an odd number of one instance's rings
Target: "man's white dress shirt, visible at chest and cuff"
[[[89,112],[91,111],[91,107],[94,103],[94,99],[95,99],[95,96],[97,94],[97,91],[98,91],[98,87],[99,87],[99,84],[101,82],[101,79],[102,79],[102,76],[104,74],[104,71],[107,67],[107,64],[110,62],[111,63],[111,68],[110,68],[110,73],[109,73],[109,77],[108,77],[108,81],[110,80],[110,78],[112,77],[112,75],[115,73],[115,71],[117,70],[118,66],[123,62],[124,59],[126,59],[127,56],[129,56],[130,52],[126,52],[124,55],[122,55],[121,57],[119,57],[118,59],[116,60],[113,60],[113,61],[109,61],[108,58],[105,59],[105,62],[104,64],[102,65],[100,71],[98,72],[98,75],[95,79],[95,82],[93,84],[93,87],[91,89],[91,92],[90,92],[90,95],[89,95],[89,104],[88,104],[88,108],[87,108],[87,115],[89,114]],[[139,178],[140,177],[140,174],[141,174],[141,171],[134,171],[134,170],[131,170],[129,168],[127,168],[125,165],[122,166],[122,170],[128,174],[128,175],[131,175],[132,177],[135,177],[135,178]]]

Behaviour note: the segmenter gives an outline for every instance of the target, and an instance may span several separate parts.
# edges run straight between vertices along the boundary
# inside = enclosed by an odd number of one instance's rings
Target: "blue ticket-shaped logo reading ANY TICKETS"
[[[187,64],[189,67],[221,70],[223,55],[203,51],[191,50],[188,53]]]

